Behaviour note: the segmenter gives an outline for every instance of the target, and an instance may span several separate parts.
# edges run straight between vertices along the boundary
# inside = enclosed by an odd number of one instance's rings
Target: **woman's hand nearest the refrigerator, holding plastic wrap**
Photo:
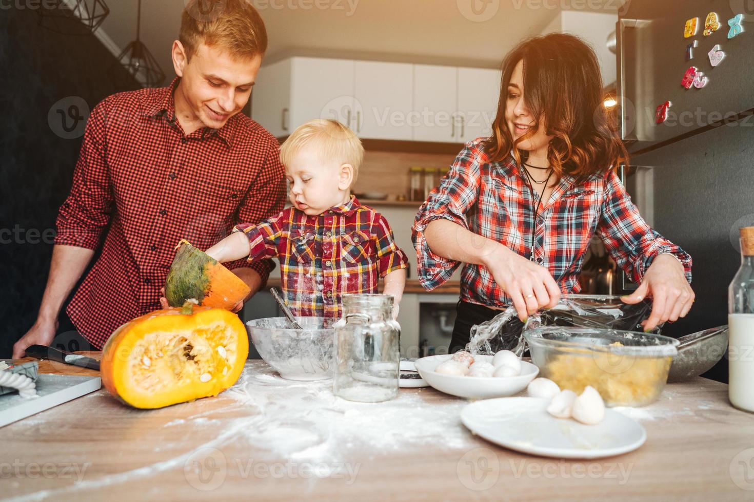
[[[667,253],[658,254],[644,274],[639,288],[621,298],[624,303],[639,303],[645,297],[652,297],[652,312],[644,321],[645,331],[654,329],[661,322],[677,321],[688,314],[695,295],[684,272],[676,257]]]

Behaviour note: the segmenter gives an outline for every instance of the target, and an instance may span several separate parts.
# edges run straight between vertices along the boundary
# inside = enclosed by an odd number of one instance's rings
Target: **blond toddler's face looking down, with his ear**
[[[285,166],[290,202],[311,216],[348,202],[350,164],[324,159],[316,145],[304,145]]]

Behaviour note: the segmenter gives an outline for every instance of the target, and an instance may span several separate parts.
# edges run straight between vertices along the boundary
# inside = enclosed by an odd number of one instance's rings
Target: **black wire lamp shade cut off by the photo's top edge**
[[[104,0],[48,0],[37,9],[43,28],[63,35],[91,35],[110,9]]]

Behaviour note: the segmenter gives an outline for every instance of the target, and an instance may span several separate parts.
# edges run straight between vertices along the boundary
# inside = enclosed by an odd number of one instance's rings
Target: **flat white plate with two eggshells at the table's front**
[[[611,457],[631,452],[647,439],[642,424],[612,409],[605,409],[601,423],[586,425],[553,417],[547,403],[540,397],[477,401],[461,410],[461,421],[492,443],[544,457]]]

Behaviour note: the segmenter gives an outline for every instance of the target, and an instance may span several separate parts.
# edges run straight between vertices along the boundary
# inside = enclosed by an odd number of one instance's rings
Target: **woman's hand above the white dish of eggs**
[[[538,309],[556,306],[560,300],[560,288],[549,270],[504,245],[489,254],[483,265],[513,300],[521,321]]]

